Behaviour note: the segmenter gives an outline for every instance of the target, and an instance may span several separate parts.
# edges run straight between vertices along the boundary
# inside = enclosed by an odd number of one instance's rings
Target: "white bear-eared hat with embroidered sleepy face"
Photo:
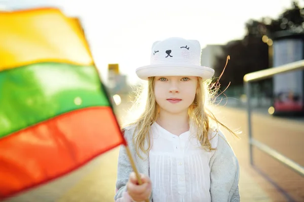
[[[153,43],[150,65],[139,67],[136,74],[147,80],[152,76],[198,76],[203,80],[214,70],[201,66],[201,45],[197,40],[171,37]]]

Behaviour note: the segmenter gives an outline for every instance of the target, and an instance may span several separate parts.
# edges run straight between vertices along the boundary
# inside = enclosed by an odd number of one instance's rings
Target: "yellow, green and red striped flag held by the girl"
[[[126,142],[79,24],[46,8],[0,13],[0,28],[1,199]]]

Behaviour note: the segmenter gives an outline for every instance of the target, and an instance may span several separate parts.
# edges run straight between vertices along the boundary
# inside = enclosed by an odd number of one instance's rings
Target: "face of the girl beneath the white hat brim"
[[[155,77],[154,92],[161,110],[172,114],[187,112],[196,95],[195,76]]]

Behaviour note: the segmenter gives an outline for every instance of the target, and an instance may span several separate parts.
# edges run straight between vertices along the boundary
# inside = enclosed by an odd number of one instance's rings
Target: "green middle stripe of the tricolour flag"
[[[0,138],[94,106],[109,106],[94,66],[39,63],[0,72]]]

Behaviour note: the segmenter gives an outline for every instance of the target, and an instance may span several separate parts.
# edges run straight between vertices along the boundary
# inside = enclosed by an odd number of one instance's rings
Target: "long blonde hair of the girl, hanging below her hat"
[[[212,90],[214,85],[211,87],[212,80],[203,81],[202,78],[198,77],[198,90],[194,101],[188,109],[189,118],[192,118],[198,127],[197,138],[201,145],[208,150],[214,150],[212,148],[208,131],[210,129],[210,122],[215,122],[223,126],[226,130],[238,137],[237,132],[231,130],[223,123],[218,121],[214,114],[211,112],[210,107],[214,103],[213,99],[217,92],[218,87]],[[136,93],[135,102],[130,109],[130,114],[135,115],[136,111],[141,112],[138,118],[128,124],[128,126],[135,126],[133,134],[133,143],[135,144],[136,153],[140,156],[139,149],[143,153],[147,154],[151,148],[150,142],[150,127],[158,119],[159,106],[156,102],[154,93],[155,77],[149,77],[147,87],[140,86],[134,92]],[[145,99],[145,100],[144,100]],[[144,102],[145,101],[145,102]],[[145,106],[143,105],[145,103]],[[136,115],[135,115],[136,116]],[[147,147],[145,148],[145,140],[147,140]]]

